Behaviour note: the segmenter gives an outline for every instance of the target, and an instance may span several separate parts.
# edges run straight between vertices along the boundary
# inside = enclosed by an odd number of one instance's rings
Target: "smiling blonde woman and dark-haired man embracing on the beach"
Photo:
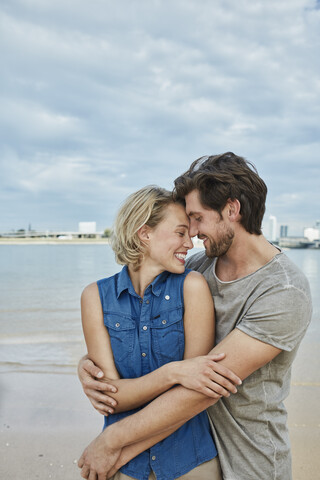
[[[290,480],[286,410],[311,319],[304,275],[261,232],[267,188],[244,158],[202,157],[174,192],[120,209],[120,273],[81,298],[79,377],[104,430],[89,480]],[[191,237],[205,251],[186,255]]]

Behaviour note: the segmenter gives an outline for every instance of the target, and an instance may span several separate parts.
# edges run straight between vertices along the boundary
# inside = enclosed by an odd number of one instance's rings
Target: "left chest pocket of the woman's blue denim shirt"
[[[131,356],[134,346],[135,322],[117,313],[104,312],[104,324],[108,329],[113,357],[118,362]]]

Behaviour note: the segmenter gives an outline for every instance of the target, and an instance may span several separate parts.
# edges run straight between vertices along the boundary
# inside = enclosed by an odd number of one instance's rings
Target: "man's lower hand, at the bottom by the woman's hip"
[[[106,480],[118,470],[117,461],[121,448],[111,448],[107,442],[106,430],[90,443],[78,461],[81,477],[88,480]]]

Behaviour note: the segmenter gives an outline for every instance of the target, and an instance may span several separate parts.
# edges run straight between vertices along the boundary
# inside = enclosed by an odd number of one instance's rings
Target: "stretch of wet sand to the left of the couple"
[[[2,373],[0,478],[80,479],[77,459],[101,431],[76,375]]]

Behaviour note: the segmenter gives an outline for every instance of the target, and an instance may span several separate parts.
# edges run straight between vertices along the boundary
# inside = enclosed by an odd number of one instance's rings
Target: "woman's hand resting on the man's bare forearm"
[[[241,385],[241,379],[219,364],[223,358],[225,354],[219,353],[173,362],[176,383],[211,398],[229,397],[230,393],[237,393],[235,385]]]

